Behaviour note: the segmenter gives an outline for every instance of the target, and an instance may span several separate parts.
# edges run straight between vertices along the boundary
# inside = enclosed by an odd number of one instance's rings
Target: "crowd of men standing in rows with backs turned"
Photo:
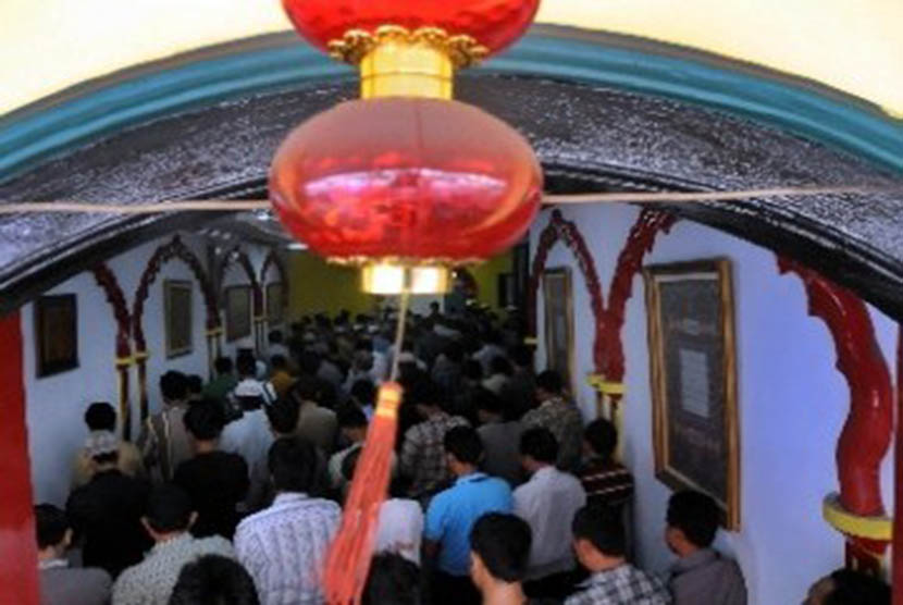
[[[633,479],[605,419],[584,422],[561,376],[533,372],[515,320],[434,307],[396,318],[304,318],[206,384],[169,371],[135,444],[107,403],[85,412],[65,509],[35,507],[49,605],[323,602],[322,566],[397,362],[404,400],[389,497],[363,603],[742,605],[743,573],[713,548],[721,511],[679,492],[663,520],[677,561],[634,565]],[[806,603],[889,603],[838,571]]]

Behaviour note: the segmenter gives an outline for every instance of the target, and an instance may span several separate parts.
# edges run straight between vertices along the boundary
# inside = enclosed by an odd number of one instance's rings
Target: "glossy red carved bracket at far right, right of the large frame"
[[[837,446],[840,502],[855,515],[883,516],[880,466],[890,447],[893,388],[865,302],[849,289],[800,263],[778,258],[781,273],[803,281],[811,316],[825,321],[837,349],[837,368],[850,385],[850,415]],[[883,553],[887,543],[855,541]]]

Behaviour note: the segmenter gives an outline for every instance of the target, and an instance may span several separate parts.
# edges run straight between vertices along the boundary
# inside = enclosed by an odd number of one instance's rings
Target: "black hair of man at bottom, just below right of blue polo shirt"
[[[470,530],[470,550],[479,555],[493,578],[504,582],[523,580],[532,541],[530,526],[517,515],[490,513]]]

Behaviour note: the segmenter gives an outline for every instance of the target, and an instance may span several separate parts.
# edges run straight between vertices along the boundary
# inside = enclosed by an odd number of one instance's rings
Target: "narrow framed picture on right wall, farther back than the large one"
[[[543,272],[543,307],[545,309],[546,368],[561,374],[573,391],[573,294],[570,269],[547,269]]]

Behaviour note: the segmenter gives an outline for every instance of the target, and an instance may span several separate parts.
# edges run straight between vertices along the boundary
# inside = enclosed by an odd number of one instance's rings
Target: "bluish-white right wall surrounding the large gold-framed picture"
[[[585,206],[562,210],[574,221],[595,259],[603,295],[615,270],[634,208]],[[548,213],[531,231],[535,250]],[[846,417],[849,390],[834,369],[834,346],[820,319],[807,314],[802,282],[778,273],[772,252],[718,231],[681,221],[659,235],[645,263],[727,257],[735,300],[741,443],[741,530],[721,532],[717,545],[743,568],[750,602],[799,603],[814,579],[840,567],[843,542],[821,519],[821,499],[838,490],[837,436]],[[573,275],[578,400],[595,416],[595,395],[584,378],[593,371],[592,326],[585,283],[570,250],[556,244],[546,267],[570,267]],[[633,282],[622,331],[627,395],[622,403],[623,459],[636,479],[636,532],[642,566],[661,571],[672,561],[663,542],[670,491],[654,477],[652,407],[642,276]],[[537,319],[543,334],[542,296]],[[896,325],[871,310],[879,343],[893,371]],[[544,363],[540,338],[537,362]],[[890,455],[882,467],[885,504],[892,506]]]

